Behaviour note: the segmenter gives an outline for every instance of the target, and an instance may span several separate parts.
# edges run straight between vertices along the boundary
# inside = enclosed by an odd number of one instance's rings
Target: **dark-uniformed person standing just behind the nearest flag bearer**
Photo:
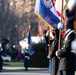
[[[58,58],[55,55],[55,52],[58,50],[58,39],[59,39],[59,30],[53,30],[52,32],[54,39],[51,44],[51,50],[49,52],[49,57],[52,59],[52,71],[51,75],[56,75],[58,71]]]

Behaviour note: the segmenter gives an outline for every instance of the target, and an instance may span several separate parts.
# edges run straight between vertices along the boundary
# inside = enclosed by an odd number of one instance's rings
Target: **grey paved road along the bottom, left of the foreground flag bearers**
[[[2,71],[0,75],[50,75],[48,71]]]

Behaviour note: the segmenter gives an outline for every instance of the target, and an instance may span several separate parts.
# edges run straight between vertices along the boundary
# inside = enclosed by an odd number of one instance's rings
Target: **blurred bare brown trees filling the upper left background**
[[[34,6],[35,0],[0,0],[0,38],[10,38],[12,44],[18,43],[23,31],[27,36],[29,24],[32,35],[36,35]]]

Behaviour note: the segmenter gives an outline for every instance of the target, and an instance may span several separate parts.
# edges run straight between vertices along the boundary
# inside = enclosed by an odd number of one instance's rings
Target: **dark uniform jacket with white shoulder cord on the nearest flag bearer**
[[[62,37],[62,47],[58,51],[60,57],[59,70],[75,70],[75,55],[71,52],[71,42],[74,40],[74,31],[68,30]]]

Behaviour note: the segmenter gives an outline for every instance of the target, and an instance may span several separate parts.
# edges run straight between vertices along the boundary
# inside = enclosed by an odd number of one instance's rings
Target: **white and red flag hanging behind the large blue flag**
[[[65,0],[63,0],[63,9],[64,9],[65,5],[66,5],[66,2],[65,2]],[[62,16],[63,21],[65,21],[65,18],[64,18],[63,14],[62,14],[62,12],[63,12],[62,11],[62,0],[56,0],[55,9],[57,11],[57,14],[58,14],[60,20],[61,20],[61,16]]]

